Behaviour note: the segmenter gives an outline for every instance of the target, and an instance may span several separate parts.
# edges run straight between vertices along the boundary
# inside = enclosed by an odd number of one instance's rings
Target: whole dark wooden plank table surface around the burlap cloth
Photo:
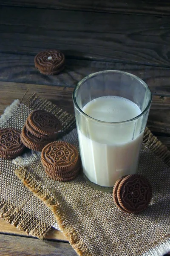
[[[43,76],[34,56],[60,49],[65,70]],[[73,113],[72,92],[84,76],[124,70],[149,85],[147,126],[170,148],[170,4],[168,0],[0,1],[0,114],[14,99],[34,92]],[[51,229],[46,241],[0,219],[0,256],[74,256]]]

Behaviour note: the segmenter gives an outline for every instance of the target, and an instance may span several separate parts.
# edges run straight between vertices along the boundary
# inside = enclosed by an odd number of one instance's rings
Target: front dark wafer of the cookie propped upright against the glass
[[[142,175],[127,175],[119,184],[119,205],[127,212],[137,213],[147,208],[152,197],[149,180]]]

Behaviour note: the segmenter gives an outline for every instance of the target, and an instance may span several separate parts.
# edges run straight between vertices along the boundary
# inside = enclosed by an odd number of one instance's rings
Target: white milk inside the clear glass
[[[82,111],[94,119],[83,119],[78,126],[83,172],[100,186],[114,186],[119,177],[136,172],[143,139],[141,113],[128,99],[104,96],[88,102]],[[85,121],[86,120],[86,121]],[[81,131],[80,131],[81,130]]]

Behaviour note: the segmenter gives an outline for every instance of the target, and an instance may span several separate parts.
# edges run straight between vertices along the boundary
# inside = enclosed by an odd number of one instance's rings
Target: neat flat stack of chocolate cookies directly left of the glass
[[[41,152],[41,163],[46,174],[57,181],[73,180],[81,167],[77,148],[64,141],[46,145]]]

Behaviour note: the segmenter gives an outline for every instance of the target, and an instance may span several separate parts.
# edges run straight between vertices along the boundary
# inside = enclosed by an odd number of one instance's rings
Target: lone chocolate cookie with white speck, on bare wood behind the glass
[[[46,50],[39,52],[34,59],[35,65],[39,68],[49,68],[49,71],[54,68],[61,67],[65,62],[65,56],[58,50]]]

